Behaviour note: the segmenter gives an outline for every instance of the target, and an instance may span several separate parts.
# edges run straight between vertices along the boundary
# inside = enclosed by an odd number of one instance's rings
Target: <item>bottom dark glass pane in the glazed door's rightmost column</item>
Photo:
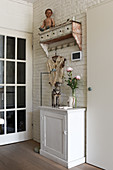
[[[17,111],[17,132],[22,132],[26,130],[26,111]]]

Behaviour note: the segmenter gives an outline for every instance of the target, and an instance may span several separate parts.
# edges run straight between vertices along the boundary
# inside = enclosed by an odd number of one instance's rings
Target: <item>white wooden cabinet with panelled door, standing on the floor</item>
[[[85,162],[85,109],[40,108],[40,154],[71,168]]]

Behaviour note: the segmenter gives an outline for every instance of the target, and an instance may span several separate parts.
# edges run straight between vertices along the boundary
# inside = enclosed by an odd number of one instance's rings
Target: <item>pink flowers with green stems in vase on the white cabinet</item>
[[[68,79],[65,79],[67,82],[67,85],[71,87],[72,89],[72,96],[69,97],[69,106],[70,107],[77,107],[77,98],[76,98],[76,88],[78,88],[78,81],[80,80],[80,76],[77,75],[75,77],[72,77],[72,71],[73,68],[68,67],[67,68],[67,75]]]

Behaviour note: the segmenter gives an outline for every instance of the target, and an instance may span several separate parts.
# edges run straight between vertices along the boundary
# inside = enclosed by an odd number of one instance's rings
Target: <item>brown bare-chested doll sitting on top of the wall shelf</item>
[[[53,11],[51,9],[46,9],[45,15],[47,18],[43,21],[42,26],[39,28],[40,31],[44,31],[46,29],[49,29],[50,27],[55,26],[55,21],[53,18],[51,18],[52,14],[53,14]]]

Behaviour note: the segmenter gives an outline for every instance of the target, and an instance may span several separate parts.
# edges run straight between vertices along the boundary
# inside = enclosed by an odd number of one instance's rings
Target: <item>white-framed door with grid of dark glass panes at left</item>
[[[32,138],[32,35],[0,29],[0,145]]]

